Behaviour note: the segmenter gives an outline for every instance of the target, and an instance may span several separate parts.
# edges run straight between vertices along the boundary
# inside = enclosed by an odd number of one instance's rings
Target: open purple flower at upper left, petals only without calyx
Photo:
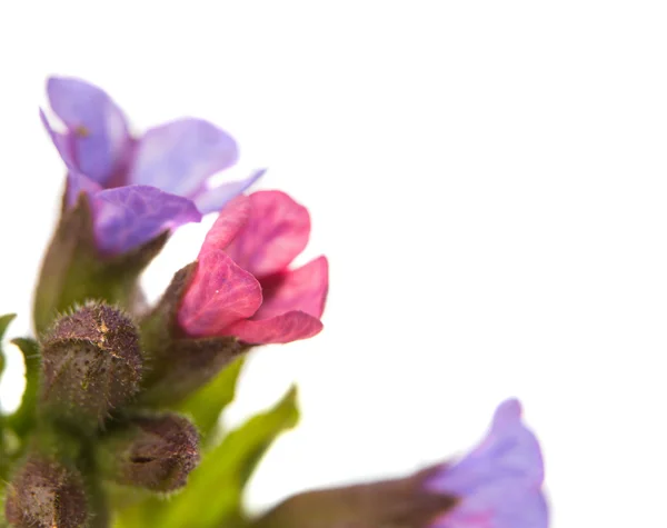
[[[68,168],[67,202],[84,192],[98,248],[118,255],[165,230],[220,210],[262,173],[210,187],[215,173],[238,159],[236,141],[201,119],[185,118],[130,135],[127,119],[100,88],[70,78],[47,82],[51,109],[66,126],[42,122]]]

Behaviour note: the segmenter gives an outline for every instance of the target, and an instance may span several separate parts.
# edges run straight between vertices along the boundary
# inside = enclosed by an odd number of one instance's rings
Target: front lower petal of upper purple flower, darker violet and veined
[[[98,247],[111,255],[135,249],[165,230],[201,220],[187,198],[146,186],[102,190],[93,196],[92,210]]]

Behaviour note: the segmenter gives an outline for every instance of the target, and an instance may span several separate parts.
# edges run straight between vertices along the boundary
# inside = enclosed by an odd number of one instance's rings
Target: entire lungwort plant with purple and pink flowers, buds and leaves
[[[0,527],[547,528],[541,452],[517,400],[457,461],[247,515],[243,487],[296,425],[296,390],[237,430],[218,418],[253,348],[322,330],[327,258],[292,265],[308,209],[279,190],[246,193],[262,170],[210,186],[238,159],[212,123],[136,136],[98,87],[52,78],[47,92],[62,127],[41,119],[67,180],[34,296],[37,338],[12,341],[27,387],[14,412],[0,412]],[[199,255],[148,306],[141,271],[207,213],[218,217]]]

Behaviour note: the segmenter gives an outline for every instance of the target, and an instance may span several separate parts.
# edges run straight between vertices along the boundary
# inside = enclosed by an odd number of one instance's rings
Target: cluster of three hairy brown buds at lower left
[[[199,434],[182,416],[137,408],[140,342],[132,318],[102,302],[73,309],[43,335],[36,426],[6,501],[12,526],[107,526],[103,480],[159,492],[185,486]]]

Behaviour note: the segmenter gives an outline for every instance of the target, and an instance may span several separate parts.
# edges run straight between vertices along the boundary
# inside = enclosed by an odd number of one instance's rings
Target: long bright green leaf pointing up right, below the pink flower
[[[241,527],[241,498],[248,479],[271,442],[298,419],[292,387],[273,408],[252,417],[205,454],[183,491],[169,501],[152,499],[123,510],[116,528]]]

